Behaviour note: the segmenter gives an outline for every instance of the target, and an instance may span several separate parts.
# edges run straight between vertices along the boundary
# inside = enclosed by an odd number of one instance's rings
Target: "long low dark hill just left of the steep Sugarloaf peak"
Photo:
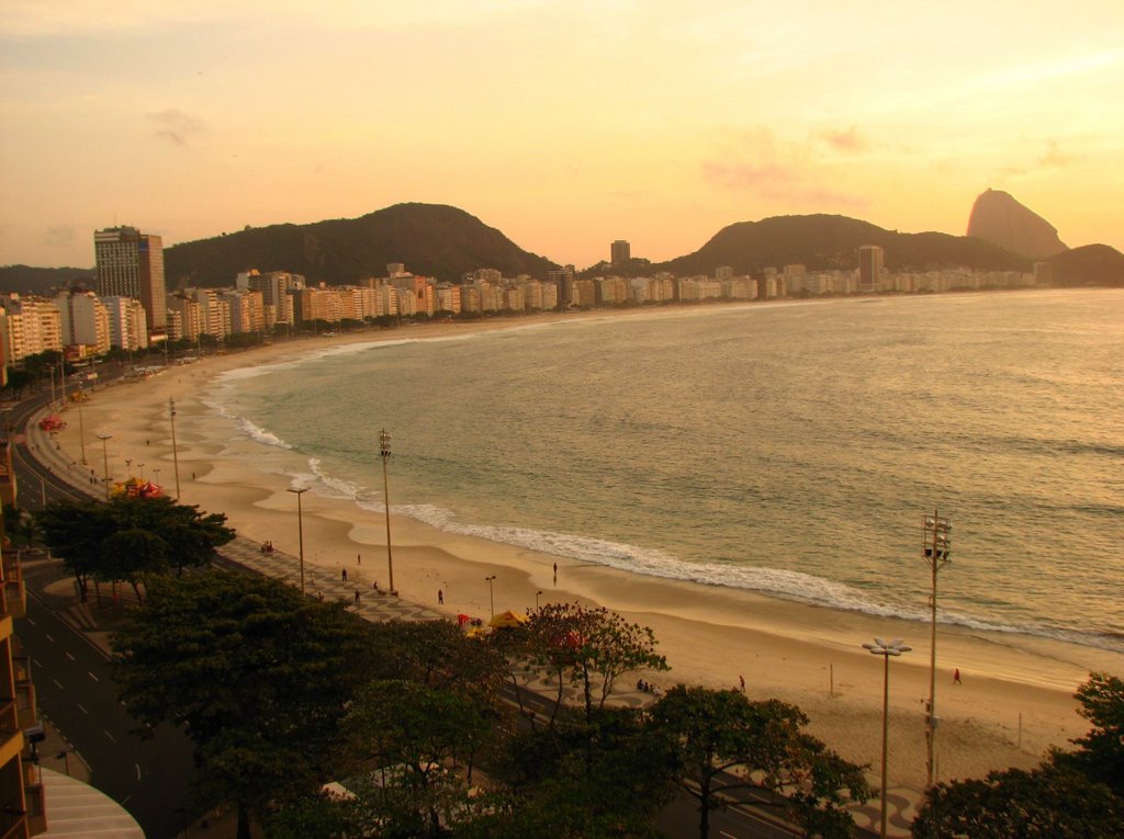
[[[955,265],[998,271],[1026,271],[1030,261],[980,239],[940,232],[903,234],[846,216],[774,216],[741,221],[719,230],[694,254],[653,265],[677,275],[714,274],[729,265],[735,274],[804,265],[809,271],[853,268],[862,245],[879,245],[891,271]]]

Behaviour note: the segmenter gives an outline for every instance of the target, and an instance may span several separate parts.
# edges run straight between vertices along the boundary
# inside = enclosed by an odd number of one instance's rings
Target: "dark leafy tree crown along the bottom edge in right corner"
[[[940,783],[913,823],[917,839],[1113,839],[1124,837],[1124,802],[1104,784],[1045,764]]]

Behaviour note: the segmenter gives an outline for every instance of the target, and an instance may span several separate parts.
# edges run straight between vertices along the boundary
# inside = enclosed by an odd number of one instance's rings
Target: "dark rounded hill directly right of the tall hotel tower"
[[[448,281],[475,268],[545,277],[556,267],[464,210],[422,203],[396,204],[356,219],[247,227],[164,249],[169,289],[229,285],[248,268],[290,271],[303,274],[309,284],[342,285],[386,276],[389,263]]]

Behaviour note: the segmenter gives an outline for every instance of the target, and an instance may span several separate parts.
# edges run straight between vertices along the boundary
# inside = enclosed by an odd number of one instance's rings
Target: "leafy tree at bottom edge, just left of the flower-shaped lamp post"
[[[796,705],[678,685],[650,714],[679,767],[679,785],[699,801],[703,839],[719,793],[733,790],[778,794],[774,802],[809,836],[825,837],[850,836],[854,824],[844,805],[870,797],[862,767],[806,733],[808,718]]]

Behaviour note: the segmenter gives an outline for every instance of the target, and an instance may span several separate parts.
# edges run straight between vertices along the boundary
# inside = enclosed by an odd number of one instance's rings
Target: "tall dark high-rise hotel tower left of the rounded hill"
[[[135,227],[111,227],[93,234],[98,263],[98,297],[135,298],[145,310],[148,334],[164,332],[164,246],[158,236]]]

